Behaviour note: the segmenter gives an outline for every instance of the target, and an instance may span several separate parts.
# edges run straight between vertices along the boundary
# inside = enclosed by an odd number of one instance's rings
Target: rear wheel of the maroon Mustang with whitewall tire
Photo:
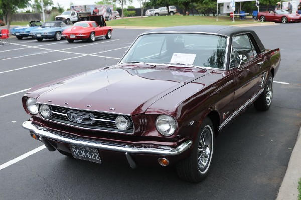
[[[254,102],[256,110],[266,111],[269,109],[273,98],[273,77],[271,74],[267,77],[262,94]]]

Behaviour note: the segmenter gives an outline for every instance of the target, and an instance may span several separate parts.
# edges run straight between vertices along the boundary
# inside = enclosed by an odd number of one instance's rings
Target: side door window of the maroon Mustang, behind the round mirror
[[[241,67],[256,57],[257,53],[248,34],[234,36],[230,66]]]

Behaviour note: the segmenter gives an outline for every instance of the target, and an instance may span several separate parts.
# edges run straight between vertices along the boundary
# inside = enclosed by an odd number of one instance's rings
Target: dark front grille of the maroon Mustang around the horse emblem
[[[41,104],[39,104],[39,108],[40,106]],[[127,130],[120,130],[115,125],[115,119],[116,117],[120,116],[120,114],[104,113],[104,112],[97,112],[91,110],[77,110],[77,109],[61,107],[61,106],[53,106],[53,105],[51,105],[51,109],[52,109],[52,115],[45,119],[64,123],[64,124],[69,124],[77,127],[89,128],[89,129],[109,130],[109,131],[117,131],[117,132],[124,132],[124,133],[133,133],[134,130],[132,119],[128,116],[122,115],[123,117],[129,119],[130,121],[129,128]],[[77,113],[77,114],[83,114],[87,116],[90,115],[90,116],[94,116],[94,118],[92,119],[92,123],[90,124],[80,123],[80,122],[71,121],[68,118],[67,113]]]

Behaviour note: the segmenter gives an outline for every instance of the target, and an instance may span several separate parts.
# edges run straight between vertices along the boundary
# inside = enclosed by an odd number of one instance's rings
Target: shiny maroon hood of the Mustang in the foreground
[[[160,98],[212,71],[198,70],[113,67],[44,84],[28,93],[38,96],[39,103],[134,115],[145,112]]]

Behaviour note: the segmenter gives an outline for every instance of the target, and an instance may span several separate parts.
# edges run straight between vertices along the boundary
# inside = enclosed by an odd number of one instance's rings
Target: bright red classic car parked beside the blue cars
[[[73,27],[66,29],[62,37],[66,38],[69,43],[75,40],[87,40],[94,42],[97,38],[105,37],[110,39],[113,29],[107,27],[102,16],[89,16],[92,21],[77,22]]]

